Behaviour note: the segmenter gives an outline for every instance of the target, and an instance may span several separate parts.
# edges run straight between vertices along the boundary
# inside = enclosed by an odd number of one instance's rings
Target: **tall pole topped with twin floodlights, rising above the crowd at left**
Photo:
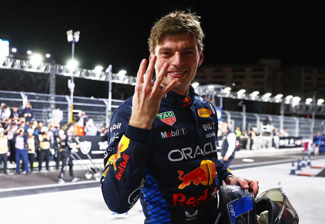
[[[77,64],[74,60],[74,43],[77,43],[79,41],[80,31],[76,31],[73,34],[72,33],[73,33],[72,30],[67,31],[67,39],[68,42],[72,42],[72,63]],[[70,93],[71,93],[70,118],[69,118],[70,122],[73,122],[72,110],[73,110],[73,91],[74,91],[74,82],[73,82],[74,69],[73,70],[71,69],[71,81],[68,82],[68,88],[70,89]]]

